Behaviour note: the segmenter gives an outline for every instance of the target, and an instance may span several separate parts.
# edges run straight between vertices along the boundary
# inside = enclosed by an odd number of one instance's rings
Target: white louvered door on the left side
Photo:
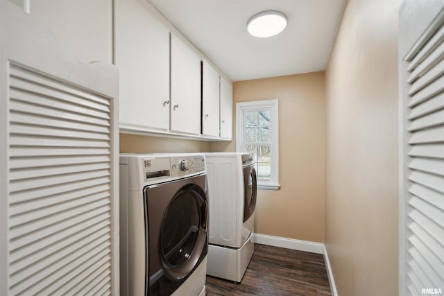
[[[0,295],[118,295],[117,69],[7,9]]]

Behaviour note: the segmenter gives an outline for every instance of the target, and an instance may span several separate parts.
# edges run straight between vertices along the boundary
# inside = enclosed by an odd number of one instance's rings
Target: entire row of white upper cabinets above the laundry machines
[[[81,60],[117,65],[121,132],[232,139],[231,82],[149,1],[10,1]]]

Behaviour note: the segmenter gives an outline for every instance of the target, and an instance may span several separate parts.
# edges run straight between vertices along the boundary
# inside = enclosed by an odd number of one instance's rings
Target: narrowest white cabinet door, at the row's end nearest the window
[[[221,138],[232,139],[232,83],[221,76]]]

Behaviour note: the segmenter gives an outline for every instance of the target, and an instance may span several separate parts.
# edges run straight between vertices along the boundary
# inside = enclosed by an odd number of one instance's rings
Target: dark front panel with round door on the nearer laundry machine
[[[148,295],[170,295],[207,254],[206,176],[144,189]]]

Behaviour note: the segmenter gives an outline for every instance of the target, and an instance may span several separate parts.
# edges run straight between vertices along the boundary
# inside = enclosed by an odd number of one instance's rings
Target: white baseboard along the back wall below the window
[[[262,245],[273,245],[273,247],[285,247],[286,249],[323,254],[324,244],[312,241],[300,241],[293,238],[280,236],[267,236],[266,234],[255,234],[255,243]]]

